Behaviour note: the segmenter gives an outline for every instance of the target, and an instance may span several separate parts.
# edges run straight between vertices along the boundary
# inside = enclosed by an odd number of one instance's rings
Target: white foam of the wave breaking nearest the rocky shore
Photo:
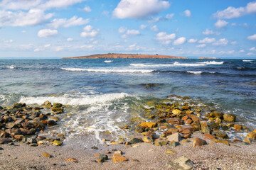
[[[74,97],[70,95],[63,96],[40,96],[40,97],[21,97],[19,102],[26,104],[43,104],[45,101],[51,103],[62,103],[70,106],[92,105],[97,103],[106,103],[108,101],[117,100],[129,96],[126,93],[114,93],[114,94],[100,94],[94,96],[80,96]]]

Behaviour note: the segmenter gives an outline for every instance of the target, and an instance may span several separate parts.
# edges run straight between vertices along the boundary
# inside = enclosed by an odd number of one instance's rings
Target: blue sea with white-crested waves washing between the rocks
[[[256,60],[0,60],[0,106],[63,103],[65,113],[46,133],[63,132],[67,141],[84,136],[83,145],[102,143],[106,134],[132,135],[119,127],[171,94],[256,128]]]

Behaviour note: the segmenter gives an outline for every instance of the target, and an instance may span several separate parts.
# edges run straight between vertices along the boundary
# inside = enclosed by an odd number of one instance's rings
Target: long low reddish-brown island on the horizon
[[[177,57],[170,55],[133,55],[133,54],[117,54],[117,53],[109,53],[102,55],[87,55],[81,57],[63,57],[63,59],[188,59],[188,57]]]

